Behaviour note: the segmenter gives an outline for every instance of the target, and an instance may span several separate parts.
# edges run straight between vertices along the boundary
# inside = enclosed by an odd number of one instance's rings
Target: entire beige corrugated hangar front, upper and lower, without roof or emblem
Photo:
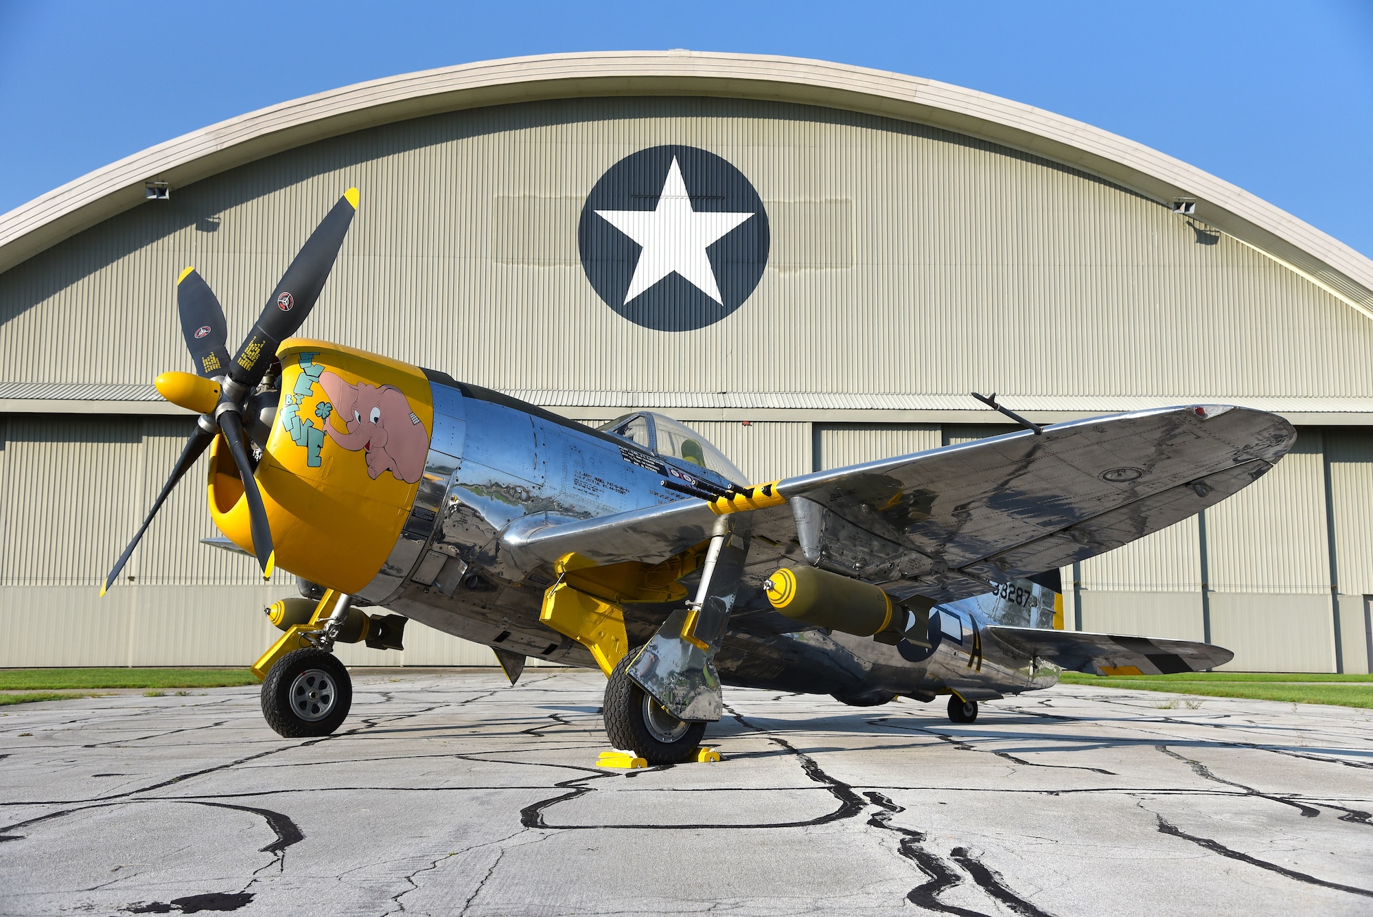
[[[577,250],[589,188],[622,156],[666,143],[743,170],[773,237],[744,306],[682,334],[619,318]],[[180,269],[200,269],[231,336],[242,335],[349,185],[361,188],[361,210],[303,332],[496,388],[604,399],[586,406],[634,404],[636,393],[680,393],[682,405],[840,393],[873,406],[886,394],[971,390],[1179,402],[1366,394],[1373,323],[1109,183],[870,115],[629,97],[437,115],[176,188],[0,275],[0,384],[132,386],[189,368],[174,317]],[[692,426],[752,480],[1008,430],[861,420]],[[290,592],[198,544],[211,534],[202,469],[133,557],[133,582],[96,612],[97,583],[188,428],[99,415],[4,420],[0,626],[14,638],[0,642],[0,664],[243,662],[270,637],[253,615],[229,625],[202,611]],[[1370,497],[1373,434],[1304,431],[1273,475],[1207,513],[1205,607],[1203,538],[1188,522],[1082,564],[1083,626],[1196,638],[1208,615],[1212,638],[1236,641],[1234,667],[1333,666],[1329,523],[1341,655],[1347,670],[1366,667],[1357,623],[1361,596],[1373,594]],[[1068,603],[1072,620],[1071,589]],[[460,641],[415,640],[406,662],[489,660]]]

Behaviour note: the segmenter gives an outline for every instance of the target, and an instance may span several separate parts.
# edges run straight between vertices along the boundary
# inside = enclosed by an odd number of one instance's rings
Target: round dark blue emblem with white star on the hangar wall
[[[588,281],[622,317],[655,331],[715,324],[752,295],[768,266],[768,211],[725,158],[649,147],[592,187],[578,224]]]

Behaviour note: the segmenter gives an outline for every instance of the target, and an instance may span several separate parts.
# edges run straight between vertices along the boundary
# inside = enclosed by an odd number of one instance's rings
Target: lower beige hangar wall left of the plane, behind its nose
[[[295,594],[262,583],[249,557],[199,544],[207,458],[173,491],[102,599],[100,583],[166,480],[194,421],[180,417],[0,417],[0,667],[239,666],[280,633],[261,608]],[[341,647],[349,664],[492,664],[448,634],[412,626],[406,651]]]

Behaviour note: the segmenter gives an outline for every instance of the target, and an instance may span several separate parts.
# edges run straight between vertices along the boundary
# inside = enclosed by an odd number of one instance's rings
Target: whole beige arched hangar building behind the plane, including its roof
[[[1254,487],[1063,571],[1067,626],[1210,638],[1240,670],[1369,670],[1373,262],[1024,104],[693,52],[324,92],[0,216],[0,666],[247,664],[273,638],[258,608],[294,582],[199,544],[202,472],[99,583],[192,424],[151,384],[192,368],[177,275],[200,270],[236,343],[350,185],[361,209],[302,334],[589,423],[652,408],[755,482],[1006,431],[971,391],[1045,423],[1277,412],[1300,438]],[[715,290],[680,265],[632,277],[640,246],[599,213],[666,206],[740,227],[710,248]],[[342,655],[492,662],[406,638]]]

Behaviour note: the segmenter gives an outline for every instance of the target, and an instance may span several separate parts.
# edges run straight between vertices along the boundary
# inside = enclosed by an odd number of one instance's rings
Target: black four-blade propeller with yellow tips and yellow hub
[[[254,388],[276,361],[277,346],[299,329],[309,317],[310,309],[314,307],[314,302],[320,298],[320,291],[324,288],[324,281],[328,280],[356,211],[357,188],[349,188],[310,233],[310,237],[305,240],[295,261],[286,269],[281,281],[276,284],[276,290],[266,301],[262,314],[258,316],[232,360],[225,346],[228,327],[224,321],[224,309],[214,297],[214,291],[194,268],[181,272],[176,287],[177,312],[181,316],[181,334],[185,338],[187,350],[191,351],[191,357],[196,362],[199,379],[188,373],[163,373],[158,376],[158,390],[168,395],[169,401],[183,405],[194,404],[203,413],[196,421],[191,438],[187,439],[181,457],[172,467],[172,475],[162,486],[162,493],[158,494],[152,509],[148,511],[147,519],[143,520],[133,541],[119,555],[106,578],[104,586],[100,589],[102,596],[114,585],[115,578],[129,561],[139,539],[143,538],[143,533],[148,530],[148,523],[166,502],[172,489],[191,469],[196,458],[209,449],[217,435],[224,437],[233,464],[239,469],[239,478],[243,480],[243,496],[247,500],[249,519],[251,520],[253,549],[262,567],[262,575],[272,575],[275,563],[272,529],[268,524],[266,508],[262,505],[257,478],[253,476],[243,415]]]

